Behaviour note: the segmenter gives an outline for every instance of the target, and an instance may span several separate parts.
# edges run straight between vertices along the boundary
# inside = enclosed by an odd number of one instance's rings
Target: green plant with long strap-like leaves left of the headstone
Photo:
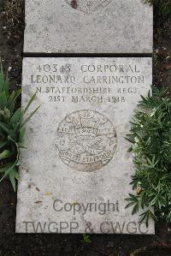
[[[13,188],[18,180],[18,167],[20,165],[20,150],[24,148],[23,138],[26,132],[25,125],[38,110],[33,110],[30,116],[24,116],[34,100],[32,96],[25,109],[15,110],[16,99],[21,95],[21,90],[9,92],[8,74],[3,74],[0,68],[0,182],[9,177]]]

